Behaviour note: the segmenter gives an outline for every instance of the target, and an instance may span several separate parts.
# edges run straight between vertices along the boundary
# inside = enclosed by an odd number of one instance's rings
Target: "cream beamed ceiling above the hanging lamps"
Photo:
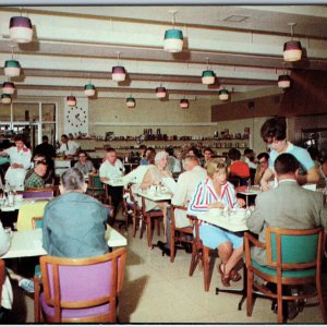
[[[28,15],[33,41],[12,44],[9,21]],[[164,50],[164,34],[172,26],[184,35],[183,51]],[[283,62],[283,44],[296,23],[303,59]],[[277,78],[292,70],[327,70],[326,5],[107,5],[0,7],[0,82],[4,61],[14,58],[23,71],[13,77],[20,96],[84,96],[89,81],[97,97],[156,98],[165,86],[169,99],[217,99],[218,89],[234,94],[278,89]],[[118,55],[120,52],[120,55]],[[111,80],[111,68],[124,65],[128,78]],[[207,65],[207,62],[209,64]],[[214,85],[203,85],[207,66]]]

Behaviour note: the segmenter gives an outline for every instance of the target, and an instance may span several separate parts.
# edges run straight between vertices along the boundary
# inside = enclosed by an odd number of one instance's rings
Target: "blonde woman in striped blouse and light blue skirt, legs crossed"
[[[213,159],[207,165],[208,178],[202,181],[194,192],[189,204],[187,213],[196,216],[208,211],[210,208],[231,208],[244,205],[243,199],[238,199],[234,186],[227,181],[227,165],[219,159]],[[239,203],[238,203],[239,202]],[[230,280],[241,279],[235,270],[237,264],[243,254],[243,237],[221,229],[217,226],[203,222],[199,226],[199,239],[209,249],[218,249],[221,264],[218,271],[225,287],[230,286]]]

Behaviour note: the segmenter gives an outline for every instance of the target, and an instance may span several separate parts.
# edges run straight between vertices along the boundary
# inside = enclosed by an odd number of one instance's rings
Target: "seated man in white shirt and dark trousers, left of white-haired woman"
[[[110,179],[117,179],[124,174],[125,168],[123,164],[117,158],[116,149],[109,147],[107,149],[106,160],[101,164],[99,169],[99,177],[101,182],[107,182]],[[109,195],[113,205],[112,223],[116,220],[119,205],[122,201],[122,186],[110,186]]]

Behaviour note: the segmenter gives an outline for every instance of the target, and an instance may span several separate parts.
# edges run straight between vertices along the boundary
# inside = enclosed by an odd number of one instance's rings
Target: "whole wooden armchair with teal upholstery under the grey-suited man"
[[[283,323],[282,301],[318,298],[322,315],[326,322],[325,306],[322,295],[320,264],[323,253],[323,230],[305,229],[290,230],[267,228],[266,243],[256,240],[249,232],[244,234],[245,264],[247,268],[247,316],[252,315],[253,291],[259,290],[265,295],[277,299],[278,324]],[[251,244],[265,249],[267,266],[261,266],[251,257]],[[265,281],[277,284],[272,292],[254,279],[254,275]],[[315,284],[313,290],[305,293],[282,294],[282,286]]]

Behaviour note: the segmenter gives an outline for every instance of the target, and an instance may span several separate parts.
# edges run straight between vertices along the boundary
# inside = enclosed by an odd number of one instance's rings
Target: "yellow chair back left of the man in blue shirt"
[[[22,204],[17,217],[17,231],[32,230],[33,217],[44,217],[45,207],[48,201],[37,201],[35,203]]]

